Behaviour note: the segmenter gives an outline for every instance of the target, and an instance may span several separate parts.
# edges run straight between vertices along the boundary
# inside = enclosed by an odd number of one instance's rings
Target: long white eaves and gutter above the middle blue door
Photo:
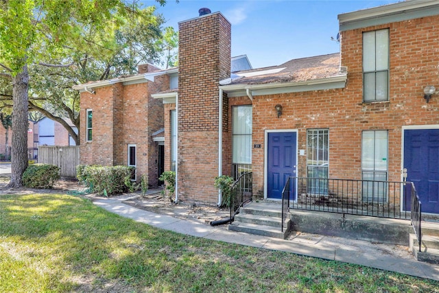
[[[347,74],[335,75],[331,78],[307,80],[303,82],[278,82],[271,84],[229,84],[219,86],[228,97],[242,97],[250,94],[274,95],[279,93],[300,93],[304,91],[320,91],[325,89],[343,89],[346,86]]]

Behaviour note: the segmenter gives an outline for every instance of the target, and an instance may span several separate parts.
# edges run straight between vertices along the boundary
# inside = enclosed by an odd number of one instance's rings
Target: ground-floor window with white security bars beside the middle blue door
[[[309,194],[328,194],[329,130],[307,130],[307,177]],[[322,178],[323,180],[321,180]]]

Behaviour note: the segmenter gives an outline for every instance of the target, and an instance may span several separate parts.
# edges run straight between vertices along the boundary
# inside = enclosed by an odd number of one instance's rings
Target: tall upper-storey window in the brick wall
[[[363,98],[389,99],[389,30],[363,33]]]

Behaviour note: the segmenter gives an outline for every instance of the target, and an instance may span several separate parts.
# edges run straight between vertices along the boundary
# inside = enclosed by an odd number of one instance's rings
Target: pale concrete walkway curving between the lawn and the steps
[[[233,244],[296,253],[298,255],[355,263],[361,266],[439,281],[439,265],[417,261],[408,251],[408,248],[403,246],[372,244],[361,240],[312,234],[299,234],[296,237],[283,240],[237,233],[228,231],[227,225],[209,226],[197,221],[173,218],[169,215],[143,211],[123,204],[123,200],[128,199],[126,196],[121,196],[98,199],[94,203],[107,211],[117,213],[123,217],[177,233]]]

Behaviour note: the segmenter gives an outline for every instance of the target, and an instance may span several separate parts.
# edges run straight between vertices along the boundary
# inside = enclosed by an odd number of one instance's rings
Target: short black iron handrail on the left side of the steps
[[[235,220],[239,209],[253,198],[252,172],[246,172],[239,176],[230,189],[230,223]]]

